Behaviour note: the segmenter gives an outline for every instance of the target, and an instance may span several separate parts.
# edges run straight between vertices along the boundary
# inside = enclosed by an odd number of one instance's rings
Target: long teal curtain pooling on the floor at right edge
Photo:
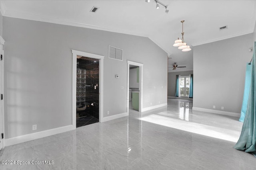
[[[237,150],[244,150],[256,155],[256,42],[254,42],[254,52],[252,56],[252,75],[250,94],[247,104],[246,115],[242,127],[240,138],[234,146]]]

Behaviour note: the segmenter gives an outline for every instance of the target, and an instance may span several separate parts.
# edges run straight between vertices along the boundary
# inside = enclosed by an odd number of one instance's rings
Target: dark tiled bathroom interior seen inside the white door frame
[[[77,56],[76,127],[99,122],[99,60]]]

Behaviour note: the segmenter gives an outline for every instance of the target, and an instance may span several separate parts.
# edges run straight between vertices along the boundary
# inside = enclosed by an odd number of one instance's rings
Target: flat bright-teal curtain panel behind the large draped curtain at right
[[[251,86],[251,80],[252,80],[252,64],[247,63],[246,64],[246,74],[245,74],[245,83],[244,83],[244,98],[243,98],[243,104],[241,109],[241,115],[240,115],[240,122],[244,122],[244,117],[246,114],[249,94],[250,94],[250,86]]]

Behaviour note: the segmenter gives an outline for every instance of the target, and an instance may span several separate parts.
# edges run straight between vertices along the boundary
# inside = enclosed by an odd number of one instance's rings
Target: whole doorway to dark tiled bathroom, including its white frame
[[[104,56],[72,50],[72,126],[101,122],[103,119]]]

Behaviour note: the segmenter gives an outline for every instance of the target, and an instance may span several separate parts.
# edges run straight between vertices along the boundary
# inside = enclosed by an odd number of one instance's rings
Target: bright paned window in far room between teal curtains
[[[179,77],[179,96],[187,97],[189,96],[189,86],[190,86],[190,76],[180,76]]]

